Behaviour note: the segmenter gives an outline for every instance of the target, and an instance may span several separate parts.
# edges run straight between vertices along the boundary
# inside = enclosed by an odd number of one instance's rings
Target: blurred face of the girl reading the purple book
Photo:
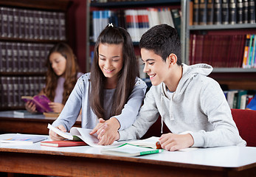
[[[52,69],[58,76],[61,76],[66,71],[66,58],[60,55],[59,52],[53,52],[49,55],[49,62],[51,63]]]

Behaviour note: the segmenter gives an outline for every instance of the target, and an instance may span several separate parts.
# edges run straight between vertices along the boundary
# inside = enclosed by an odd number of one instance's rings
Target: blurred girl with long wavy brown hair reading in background
[[[68,44],[59,43],[52,47],[46,60],[46,85],[39,94],[44,94],[52,103],[49,107],[60,113],[69,94],[83,73],[79,72],[77,58]],[[27,102],[27,111],[36,112],[35,104]]]

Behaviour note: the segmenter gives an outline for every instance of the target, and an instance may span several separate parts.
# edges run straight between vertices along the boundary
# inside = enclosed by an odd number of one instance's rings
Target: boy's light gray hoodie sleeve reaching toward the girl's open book
[[[154,86],[151,86],[151,89],[146,94],[144,105],[142,105],[142,108],[140,108],[138,117],[136,118],[134,124],[123,131],[119,131],[119,141],[141,138],[148,131],[148,128],[150,128],[151,125],[153,125],[153,123],[158,119],[159,111],[156,108],[156,101],[153,97],[153,89]]]

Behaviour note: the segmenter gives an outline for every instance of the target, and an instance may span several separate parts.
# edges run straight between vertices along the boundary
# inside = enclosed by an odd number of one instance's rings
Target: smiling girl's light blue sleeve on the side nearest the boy
[[[134,123],[139,108],[142,105],[146,89],[146,83],[137,77],[134,89],[131,92],[130,97],[128,97],[128,102],[122,109],[121,114],[114,116],[120,122],[120,131],[130,127]]]

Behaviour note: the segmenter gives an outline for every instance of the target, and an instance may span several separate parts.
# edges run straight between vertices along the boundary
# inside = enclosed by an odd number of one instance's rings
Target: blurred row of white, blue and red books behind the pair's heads
[[[180,34],[180,10],[150,7],[147,10],[94,10],[92,12],[92,41],[97,41],[100,32],[108,25],[124,27],[132,41],[139,42],[142,34],[157,24],[169,24],[176,27]]]

